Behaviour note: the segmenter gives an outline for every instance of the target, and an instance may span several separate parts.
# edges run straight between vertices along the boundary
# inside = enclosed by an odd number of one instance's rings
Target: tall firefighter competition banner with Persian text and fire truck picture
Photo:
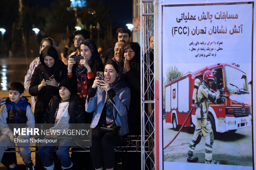
[[[254,2],[201,2],[159,2],[159,167],[252,170]]]

